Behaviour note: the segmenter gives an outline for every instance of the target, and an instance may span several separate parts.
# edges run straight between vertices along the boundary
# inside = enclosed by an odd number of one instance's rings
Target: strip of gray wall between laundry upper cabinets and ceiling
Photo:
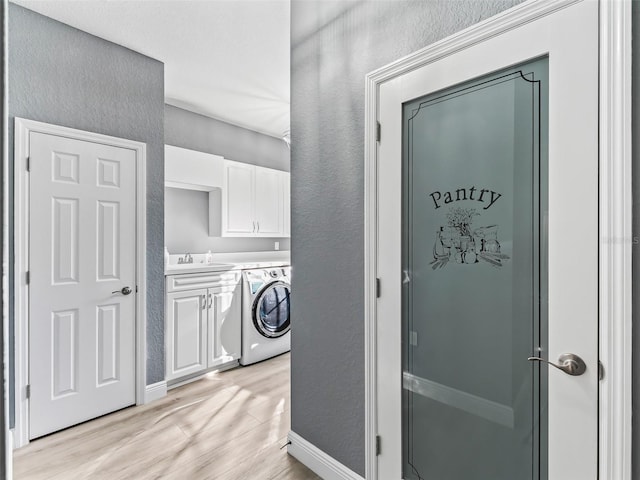
[[[166,105],[164,143],[222,155],[236,162],[289,171],[289,149],[282,139]]]

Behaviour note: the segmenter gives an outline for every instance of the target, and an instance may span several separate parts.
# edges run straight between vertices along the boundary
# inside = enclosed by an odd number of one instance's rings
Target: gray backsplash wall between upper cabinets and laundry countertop
[[[225,238],[209,236],[209,194],[196,190],[166,188],[164,191],[164,243],[169,253],[264,252],[289,250],[288,238]],[[216,210],[219,217],[220,208]],[[218,220],[219,221],[219,220]]]

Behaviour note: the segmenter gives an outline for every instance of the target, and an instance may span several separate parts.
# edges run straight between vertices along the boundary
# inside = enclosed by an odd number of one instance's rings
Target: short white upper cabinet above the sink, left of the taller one
[[[167,187],[211,191],[222,188],[224,158],[187,148],[164,146],[164,179]]]

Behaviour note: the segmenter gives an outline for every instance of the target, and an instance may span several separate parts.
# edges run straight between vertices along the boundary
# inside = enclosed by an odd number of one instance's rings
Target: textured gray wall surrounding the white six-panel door
[[[147,144],[147,383],[161,381],[164,65],[14,4],[8,45],[10,139],[14,117],[23,117]]]

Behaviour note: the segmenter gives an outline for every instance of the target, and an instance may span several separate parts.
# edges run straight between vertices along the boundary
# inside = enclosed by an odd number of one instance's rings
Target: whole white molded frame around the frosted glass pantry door
[[[366,76],[365,477],[377,480],[376,258],[379,88],[386,81],[579,1],[529,0]],[[570,26],[568,34],[570,34]],[[599,478],[631,480],[631,1],[600,2]],[[382,133],[384,135],[384,133]],[[382,446],[384,448],[384,446]]]

